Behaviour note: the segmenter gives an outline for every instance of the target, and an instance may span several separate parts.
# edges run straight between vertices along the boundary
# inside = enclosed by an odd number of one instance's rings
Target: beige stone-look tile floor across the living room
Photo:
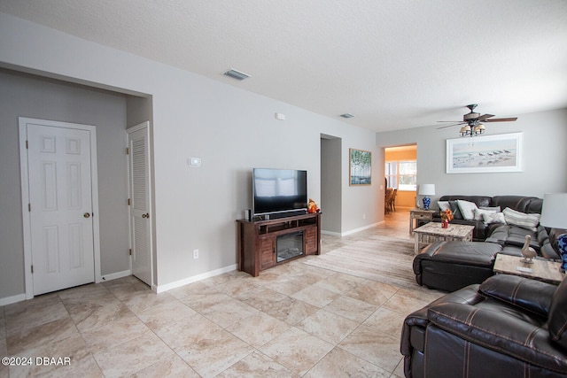
[[[369,234],[409,237],[408,212],[355,235],[323,235],[323,252]],[[0,357],[33,366],[0,366],[0,377],[402,377],[401,323],[441,293],[302,260],[159,295],[127,277],[5,305]],[[37,357],[55,360],[37,366]]]

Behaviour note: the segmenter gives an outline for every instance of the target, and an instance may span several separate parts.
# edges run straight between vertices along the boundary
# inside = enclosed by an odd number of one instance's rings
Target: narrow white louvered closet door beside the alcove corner
[[[130,127],[128,170],[132,274],[151,286],[151,193],[149,124]]]

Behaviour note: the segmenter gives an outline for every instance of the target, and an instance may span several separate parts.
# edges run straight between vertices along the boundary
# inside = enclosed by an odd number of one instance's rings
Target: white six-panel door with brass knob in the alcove
[[[49,123],[26,125],[34,295],[95,281],[90,132]]]

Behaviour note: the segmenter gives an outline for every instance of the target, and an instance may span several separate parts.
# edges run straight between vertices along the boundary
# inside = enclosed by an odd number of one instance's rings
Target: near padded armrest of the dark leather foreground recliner
[[[534,366],[567,373],[567,351],[551,341],[546,328],[521,313],[446,303],[430,307],[427,317],[437,327],[470,343]]]

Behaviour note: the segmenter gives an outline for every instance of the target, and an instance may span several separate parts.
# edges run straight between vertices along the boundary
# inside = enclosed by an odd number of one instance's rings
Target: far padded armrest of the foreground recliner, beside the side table
[[[483,282],[479,291],[485,296],[547,318],[555,289],[555,285],[546,282],[511,274],[497,274]]]

